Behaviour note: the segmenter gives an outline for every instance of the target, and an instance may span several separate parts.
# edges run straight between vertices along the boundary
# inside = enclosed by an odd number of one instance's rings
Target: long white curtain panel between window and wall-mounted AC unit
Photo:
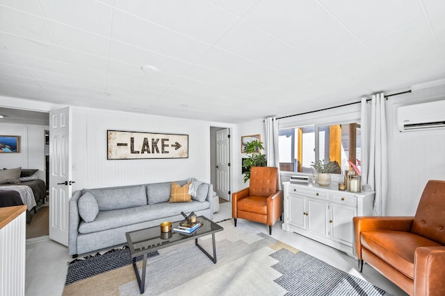
[[[362,184],[375,191],[373,214],[385,216],[388,191],[387,123],[384,94],[362,98]]]

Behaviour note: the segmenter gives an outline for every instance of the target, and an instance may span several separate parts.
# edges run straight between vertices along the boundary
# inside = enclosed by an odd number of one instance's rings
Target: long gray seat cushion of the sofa
[[[129,209],[116,209],[113,211],[99,211],[97,217],[91,223],[81,221],[79,233],[89,234],[107,229],[118,228],[149,220],[169,219],[173,216],[176,220],[181,219],[181,211],[190,213],[191,211],[202,211],[209,209],[209,202],[187,202],[174,203],[167,202],[159,204],[147,204],[145,206],[133,207]]]

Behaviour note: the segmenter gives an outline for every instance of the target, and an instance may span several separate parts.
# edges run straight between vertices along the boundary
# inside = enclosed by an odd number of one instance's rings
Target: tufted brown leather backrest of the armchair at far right
[[[411,232],[445,245],[445,181],[428,181]]]

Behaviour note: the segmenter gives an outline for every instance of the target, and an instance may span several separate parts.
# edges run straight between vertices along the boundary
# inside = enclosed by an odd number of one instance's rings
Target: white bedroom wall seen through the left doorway
[[[19,166],[38,168],[40,179],[45,180],[44,130],[48,128],[42,125],[0,123],[1,135],[20,136],[20,152],[0,153],[0,169]]]

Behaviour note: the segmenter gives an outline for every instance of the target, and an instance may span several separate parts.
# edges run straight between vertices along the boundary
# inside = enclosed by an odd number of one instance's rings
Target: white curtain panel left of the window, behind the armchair
[[[281,189],[280,178],[280,158],[278,155],[278,121],[277,117],[268,117],[264,119],[264,129],[266,130],[266,149],[267,166],[278,168],[278,186]]]

